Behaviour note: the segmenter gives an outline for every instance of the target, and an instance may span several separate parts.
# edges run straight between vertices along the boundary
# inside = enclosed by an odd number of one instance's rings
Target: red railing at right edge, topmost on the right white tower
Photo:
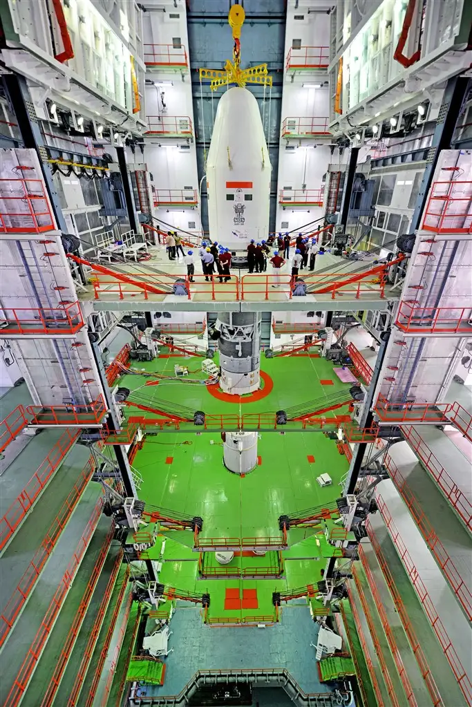
[[[472,233],[471,201],[472,182],[433,182],[423,216],[423,230]]]

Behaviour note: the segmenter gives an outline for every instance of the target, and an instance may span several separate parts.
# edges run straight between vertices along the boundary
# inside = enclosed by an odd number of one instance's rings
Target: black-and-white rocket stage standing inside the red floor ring
[[[260,312],[219,312],[220,387],[229,395],[246,395],[260,386]]]

